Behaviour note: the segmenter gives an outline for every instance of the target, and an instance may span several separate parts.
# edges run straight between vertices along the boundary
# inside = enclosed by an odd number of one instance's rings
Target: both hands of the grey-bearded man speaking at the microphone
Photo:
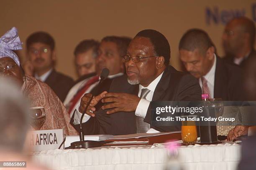
[[[92,94],[86,93],[81,99],[79,112],[83,112],[85,106],[90,100]],[[90,105],[86,110],[86,114],[95,117],[96,108],[98,102],[107,103],[101,107],[102,110],[107,110],[107,114],[113,114],[115,112],[133,112],[136,110],[138,103],[141,98],[136,95],[131,95],[127,93],[114,93],[114,92],[102,92],[100,95],[94,96]]]

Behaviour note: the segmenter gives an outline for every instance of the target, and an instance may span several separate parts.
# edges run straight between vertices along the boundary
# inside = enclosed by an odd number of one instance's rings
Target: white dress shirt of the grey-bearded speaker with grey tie
[[[155,91],[156,86],[159,83],[162,75],[163,75],[163,72],[158,77],[156,77],[156,79],[153,80],[148,85],[148,87],[143,87],[142,85],[139,85],[138,97],[141,96],[141,89],[143,89],[143,88],[147,88],[148,90],[150,90],[150,92],[146,96],[146,99],[141,99],[140,102],[138,103],[138,106],[137,106],[137,108],[135,110],[135,115],[136,116],[139,116],[139,117],[142,117],[142,118],[146,117],[146,114],[147,114],[147,111],[148,111],[148,106],[149,106],[149,104],[150,104],[150,102],[151,102],[151,100],[153,98],[154,91]]]

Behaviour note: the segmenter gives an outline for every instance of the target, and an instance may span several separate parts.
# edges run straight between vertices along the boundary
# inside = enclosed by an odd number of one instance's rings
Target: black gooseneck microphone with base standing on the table
[[[100,73],[100,82],[98,83],[98,85],[100,85],[108,77],[108,74],[109,74],[109,70],[107,68],[103,68]],[[83,120],[83,117],[84,117],[84,114],[85,114],[87,108],[90,105],[90,102],[92,101],[93,96],[94,95],[92,94],[89,102],[87,102],[87,105],[85,106],[84,111],[81,116],[81,119],[80,119],[80,132],[79,132],[80,141],[71,143],[71,148],[92,148],[92,147],[99,147],[102,145],[102,143],[98,142],[98,141],[89,141],[89,140],[85,141],[84,140],[84,131],[82,129],[82,120]]]

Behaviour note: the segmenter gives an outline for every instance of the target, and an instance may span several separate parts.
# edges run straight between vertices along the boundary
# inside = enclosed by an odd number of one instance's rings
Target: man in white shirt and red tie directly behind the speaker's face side
[[[89,92],[99,95],[105,90],[109,90],[114,77],[123,75],[124,65],[122,56],[125,55],[126,48],[128,47],[130,41],[131,38],[129,37],[104,37],[100,42],[98,56],[95,59],[96,72],[90,74],[90,76],[85,76],[84,80],[81,80],[70,89],[64,101],[64,105],[67,107],[69,114],[72,115],[71,122],[75,128],[79,129],[77,124],[79,124],[82,114],[78,112],[79,109],[77,105],[79,105],[83,95]],[[101,85],[97,85],[100,80],[99,75],[103,68],[108,68],[108,78],[104,80]],[[102,103],[100,102],[95,110],[100,108],[101,105]],[[77,112],[74,112],[75,110],[77,110]],[[86,119],[86,117],[84,118]]]

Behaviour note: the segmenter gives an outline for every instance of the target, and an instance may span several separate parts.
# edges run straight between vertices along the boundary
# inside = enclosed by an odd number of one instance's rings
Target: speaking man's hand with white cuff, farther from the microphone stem
[[[104,98],[101,101],[103,103],[110,103],[101,108],[103,110],[110,109],[107,111],[107,114],[115,112],[133,112],[136,110],[140,100],[141,98],[137,95],[108,92],[104,95]]]

